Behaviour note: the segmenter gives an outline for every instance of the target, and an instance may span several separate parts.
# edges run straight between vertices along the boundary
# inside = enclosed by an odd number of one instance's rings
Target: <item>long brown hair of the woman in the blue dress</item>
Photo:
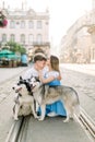
[[[50,64],[51,69],[55,71],[59,71],[59,59],[56,56],[50,56]]]

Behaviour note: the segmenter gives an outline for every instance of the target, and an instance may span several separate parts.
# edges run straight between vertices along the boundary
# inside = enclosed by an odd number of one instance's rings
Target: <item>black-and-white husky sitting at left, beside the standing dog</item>
[[[29,114],[33,114],[35,118],[38,118],[34,108],[34,97],[31,92],[29,81],[23,80],[20,76],[20,81],[12,88],[16,94],[13,106],[14,120],[17,120],[19,116],[27,116]]]

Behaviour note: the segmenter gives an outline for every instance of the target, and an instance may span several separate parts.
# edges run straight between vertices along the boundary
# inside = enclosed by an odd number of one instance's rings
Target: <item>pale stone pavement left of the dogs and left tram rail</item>
[[[26,68],[0,69],[0,142],[4,142],[7,134],[13,123],[13,91],[12,86],[19,80]],[[5,81],[7,79],[7,81]]]

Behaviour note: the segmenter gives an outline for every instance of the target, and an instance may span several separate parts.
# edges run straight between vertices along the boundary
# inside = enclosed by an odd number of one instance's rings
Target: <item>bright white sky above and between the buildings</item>
[[[0,5],[2,1],[11,9],[21,8],[22,1],[36,12],[49,9],[49,39],[55,46],[60,44],[69,27],[92,9],[92,0],[0,0]]]

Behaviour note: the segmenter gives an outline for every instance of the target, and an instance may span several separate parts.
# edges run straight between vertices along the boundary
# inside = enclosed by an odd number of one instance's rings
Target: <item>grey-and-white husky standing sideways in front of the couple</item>
[[[74,117],[74,114],[80,114],[80,102],[78,93],[74,88],[69,86],[48,86],[41,84],[36,78],[31,80],[32,92],[35,100],[39,104],[41,115],[39,120],[45,119],[45,110],[47,104],[52,104],[57,100],[61,100],[67,111],[67,119]]]

